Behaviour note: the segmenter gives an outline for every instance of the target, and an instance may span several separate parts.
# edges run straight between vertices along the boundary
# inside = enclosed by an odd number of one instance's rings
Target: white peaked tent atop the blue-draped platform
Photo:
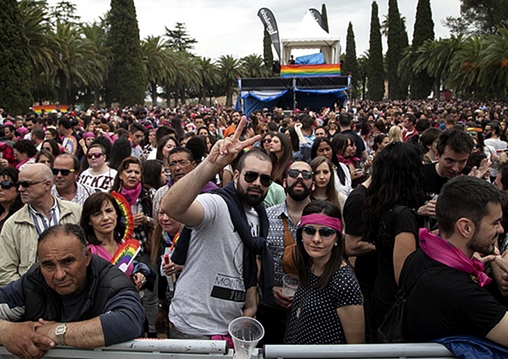
[[[281,41],[282,64],[289,59],[292,49],[321,49],[326,63],[337,63],[340,54],[340,39],[324,31],[309,10],[290,38]]]

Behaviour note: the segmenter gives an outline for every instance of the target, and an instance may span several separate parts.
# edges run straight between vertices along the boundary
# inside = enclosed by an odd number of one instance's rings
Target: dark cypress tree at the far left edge
[[[13,115],[24,114],[33,103],[28,43],[16,0],[0,0],[0,107]]]

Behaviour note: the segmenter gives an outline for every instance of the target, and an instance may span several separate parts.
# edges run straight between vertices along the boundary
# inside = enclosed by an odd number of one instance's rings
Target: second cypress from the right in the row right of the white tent
[[[386,70],[388,77],[388,97],[404,99],[407,95],[407,83],[399,77],[399,62],[408,46],[408,36],[399,13],[397,0],[388,0],[388,51],[386,52]]]

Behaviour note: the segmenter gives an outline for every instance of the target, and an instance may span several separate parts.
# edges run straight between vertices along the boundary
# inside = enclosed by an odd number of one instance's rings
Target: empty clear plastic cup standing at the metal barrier
[[[228,326],[235,346],[235,359],[251,359],[252,353],[264,335],[261,323],[251,317],[239,317]]]

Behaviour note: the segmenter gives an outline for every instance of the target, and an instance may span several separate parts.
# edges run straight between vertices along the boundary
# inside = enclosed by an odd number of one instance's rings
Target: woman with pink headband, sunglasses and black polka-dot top
[[[342,258],[340,209],[315,200],[296,231],[300,285],[294,294],[285,344],[365,342],[362,296]]]

